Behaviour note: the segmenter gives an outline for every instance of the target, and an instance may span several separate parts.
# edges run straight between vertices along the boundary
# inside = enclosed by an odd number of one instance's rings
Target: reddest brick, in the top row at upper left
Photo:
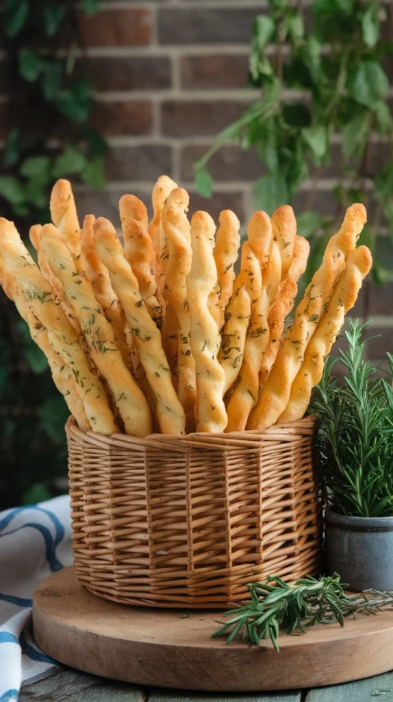
[[[151,12],[146,8],[103,10],[79,15],[85,46],[146,46],[151,40]]]

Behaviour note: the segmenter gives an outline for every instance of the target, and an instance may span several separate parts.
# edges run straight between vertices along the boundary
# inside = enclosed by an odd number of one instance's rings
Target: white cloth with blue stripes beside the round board
[[[60,665],[32,640],[32,597],[44,578],[71,562],[67,496],[0,512],[0,702],[18,700],[22,682]]]

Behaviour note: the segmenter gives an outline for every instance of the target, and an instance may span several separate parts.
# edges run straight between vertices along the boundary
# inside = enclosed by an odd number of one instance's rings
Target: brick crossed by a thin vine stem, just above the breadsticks
[[[208,148],[209,145],[190,144],[181,149],[181,178],[193,180],[193,164]],[[223,181],[254,181],[266,172],[255,150],[242,151],[236,146],[221,147],[209,160],[208,168],[214,180]]]

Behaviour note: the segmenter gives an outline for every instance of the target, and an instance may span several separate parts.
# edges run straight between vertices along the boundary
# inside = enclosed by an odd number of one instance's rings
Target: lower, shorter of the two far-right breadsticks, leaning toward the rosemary
[[[372,263],[371,252],[366,246],[359,246],[348,255],[345,270],[334,286],[326,312],[322,314],[305,350],[301,369],[292,383],[289,402],[278,418],[279,423],[294,422],[307,411],[312,388],[322,378],[324,359],[331,352],[344,324],[345,314],[354,306]]]

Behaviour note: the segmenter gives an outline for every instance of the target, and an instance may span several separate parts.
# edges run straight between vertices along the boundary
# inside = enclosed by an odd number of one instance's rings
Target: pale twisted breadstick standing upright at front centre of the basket
[[[213,256],[215,230],[206,212],[195,212],[191,220],[193,261],[186,285],[197,378],[195,419],[198,432],[222,432],[227,422],[223,403],[225,373],[218,359],[221,336],[207,307],[209,293],[217,283]]]

